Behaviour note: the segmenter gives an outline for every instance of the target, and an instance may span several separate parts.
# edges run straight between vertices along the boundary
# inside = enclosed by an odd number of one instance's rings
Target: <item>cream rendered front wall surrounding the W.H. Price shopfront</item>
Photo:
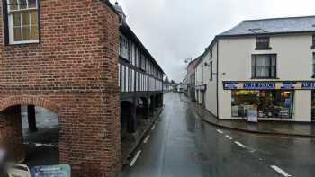
[[[274,81],[314,80],[311,76],[315,49],[311,49],[311,34],[273,36],[271,50],[256,50],[256,47],[256,37],[219,40],[220,119],[232,119],[231,91],[223,90],[222,81],[262,81],[251,79],[252,54],[277,54],[278,79]],[[295,92],[293,120],[311,120],[311,91]]]

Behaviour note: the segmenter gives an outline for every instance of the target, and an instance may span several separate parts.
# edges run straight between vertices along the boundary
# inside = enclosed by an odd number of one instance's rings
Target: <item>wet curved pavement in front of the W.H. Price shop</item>
[[[246,120],[219,120],[210,111],[202,108],[201,105],[191,102],[193,110],[203,120],[220,128],[230,128],[249,133],[260,133],[269,135],[284,135],[296,137],[315,137],[315,123],[284,122],[284,121],[260,121],[248,123]]]

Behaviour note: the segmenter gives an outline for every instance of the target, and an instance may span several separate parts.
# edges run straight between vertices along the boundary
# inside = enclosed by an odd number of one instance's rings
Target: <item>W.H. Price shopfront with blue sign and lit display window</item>
[[[301,107],[306,108],[306,104],[310,104],[307,97],[300,99],[302,97],[299,96],[297,99],[295,94],[309,93],[308,98],[311,101],[311,105],[308,106],[311,115],[309,119],[315,120],[314,81],[223,82],[223,87],[231,94],[231,119],[245,119],[248,116],[247,112],[253,110],[257,111],[258,119],[294,119],[295,111],[301,112]]]

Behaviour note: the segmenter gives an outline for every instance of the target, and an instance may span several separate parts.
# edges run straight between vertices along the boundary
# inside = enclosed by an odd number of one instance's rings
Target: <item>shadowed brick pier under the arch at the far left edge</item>
[[[25,158],[21,106],[0,111],[0,146],[6,149],[8,157],[15,162]]]

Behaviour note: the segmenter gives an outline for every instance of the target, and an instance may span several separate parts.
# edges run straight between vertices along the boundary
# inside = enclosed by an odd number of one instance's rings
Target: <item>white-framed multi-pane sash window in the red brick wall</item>
[[[10,44],[39,42],[38,0],[6,0]],[[5,21],[4,21],[5,22]]]

